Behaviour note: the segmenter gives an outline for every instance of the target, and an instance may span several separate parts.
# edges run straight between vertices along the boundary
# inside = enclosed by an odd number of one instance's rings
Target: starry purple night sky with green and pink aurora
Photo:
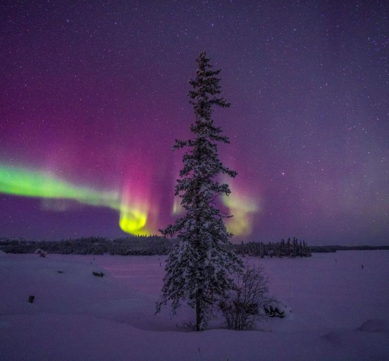
[[[158,233],[180,214],[195,57],[238,172],[234,242],[389,236],[387,1],[1,1],[0,237]]]

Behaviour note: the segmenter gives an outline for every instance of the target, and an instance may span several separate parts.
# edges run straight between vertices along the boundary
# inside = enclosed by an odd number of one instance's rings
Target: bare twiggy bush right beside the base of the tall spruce
[[[242,274],[237,275],[235,286],[229,290],[219,308],[229,329],[254,329],[257,322],[266,318],[262,312],[271,302],[268,297],[268,279],[259,267],[247,265]]]

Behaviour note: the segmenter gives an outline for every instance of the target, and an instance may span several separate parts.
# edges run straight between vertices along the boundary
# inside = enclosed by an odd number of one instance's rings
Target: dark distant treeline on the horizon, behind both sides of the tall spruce
[[[158,235],[133,236],[127,238],[88,237],[68,240],[24,240],[0,238],[0,250],[6,253],[34,253],[40,249],[62,255],[167,255],[175,240]],[[228,245],[239,255],[256,257],[310,257],[311,250],[297,238],[278,243],[249,242]]]

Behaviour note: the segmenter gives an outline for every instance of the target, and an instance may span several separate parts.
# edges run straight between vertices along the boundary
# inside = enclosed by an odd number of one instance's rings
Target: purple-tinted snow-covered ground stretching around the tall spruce
[[[164,259],[0,252],[0,360],[389,360],[389,251],[245,258],[292,310],[257,331],[154,315]]]

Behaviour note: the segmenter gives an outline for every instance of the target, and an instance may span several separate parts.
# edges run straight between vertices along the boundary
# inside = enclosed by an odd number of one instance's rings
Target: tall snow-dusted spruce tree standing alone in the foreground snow
[[[190,79],[192,90],[188,94],[196,116],[195,124],[190,126],[193,137],[175,140],[173,146],[173,149],[188,149],[175,186],[175,195],[180,196],[185,215],[160,230],[165,237],[176,236],[177,242],[166,261],[166,276],[156,312],[171,301],[174,315],[180,302],[187,302],[196,310],[197,331],[202,331],[206,329],[212,305],[233,287],[232,275],[242,270],[242,262],[235,253],[222,247],[229,243],[232,234],[227,232],[223,222],[226,216],[215,203],[218,195],[230,194],[228,184],[218,183],[216,177],[237,175],[218,158],[217,142],[229,140],[211,119],[213,106],[227,108],[230,104],[218,97],[220,70],[211,70],[205,52],[196,61],[199,68],[195,80]]]

